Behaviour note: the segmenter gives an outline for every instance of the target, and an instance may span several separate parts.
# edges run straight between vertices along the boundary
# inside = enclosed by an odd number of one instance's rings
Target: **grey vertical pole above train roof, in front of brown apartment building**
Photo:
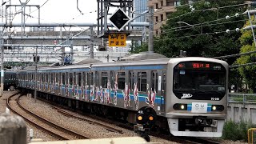
[[[149,52],[154,52],[154,7],[150,6],[150,30],[149,30]]]

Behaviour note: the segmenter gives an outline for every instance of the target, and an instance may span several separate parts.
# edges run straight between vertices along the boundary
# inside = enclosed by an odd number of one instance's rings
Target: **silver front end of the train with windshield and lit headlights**
[[[226,119],[228,64],[213,58],[168,63],[166,118],[174,136],[221,137]]]

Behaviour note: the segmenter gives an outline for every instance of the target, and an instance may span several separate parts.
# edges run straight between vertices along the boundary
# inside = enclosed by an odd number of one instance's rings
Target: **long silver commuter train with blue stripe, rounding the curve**
[[[158,115],[158,130],[174,136],[222,136],[226,62],[137,56],[120,62],[42,67],[37,80],[34,69],[18,70],[18,87],[34,94],[36,86],[37,97],[130,123],[135,123],[141,107],[149,106]]]

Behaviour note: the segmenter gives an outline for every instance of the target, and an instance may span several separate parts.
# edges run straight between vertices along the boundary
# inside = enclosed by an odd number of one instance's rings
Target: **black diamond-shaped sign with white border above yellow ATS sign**
[[[118,31],[122,30],[124,26],[130,22],[130,17],[126,15],[124,11],[119,7],[111,16],[110,22],[112,25],[118,29]]]

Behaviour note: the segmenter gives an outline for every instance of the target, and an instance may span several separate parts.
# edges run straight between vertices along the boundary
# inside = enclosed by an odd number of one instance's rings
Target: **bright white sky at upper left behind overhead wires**
[[[21,1],[26,2],[26,0]],[[6,5],[10,5],[8,0],[3,0],[3,2],[7,2]],[[20,2],[19,0],[11,0],[11,5],[20,5]],[[40,8],[41,22],[97,22],[97,0],[78,0],[78,8],[81,12],[77,9],[77,0],[29,0],[27,5],[43,5]],[[21,10],[21,7],[15,8],[12,6],[11,10],[15,14],[18,10]],[[34,17],[26,18],[26,22],[38,22],[38,10],[36,7],[26,6],[26,14]],[[13,22],[21,22],[21,19],[22,15],[16,14]]]

